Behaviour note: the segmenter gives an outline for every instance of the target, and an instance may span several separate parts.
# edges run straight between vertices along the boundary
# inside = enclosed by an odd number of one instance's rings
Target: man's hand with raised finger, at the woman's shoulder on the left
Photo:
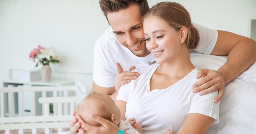
[[[130,72],[128,71],[124,72],[122,66],[118,62],[116,63],[116,67],[117,67],[117,75],[115,77],[115,85],[116,85],[116,91],[118,93],[122,85],[128,84],[131,82],[131,80],[137,79],[140,74],[137,72],[131,72],[133,69],[135,69],[135,66],[130,67],[129,69]]]

